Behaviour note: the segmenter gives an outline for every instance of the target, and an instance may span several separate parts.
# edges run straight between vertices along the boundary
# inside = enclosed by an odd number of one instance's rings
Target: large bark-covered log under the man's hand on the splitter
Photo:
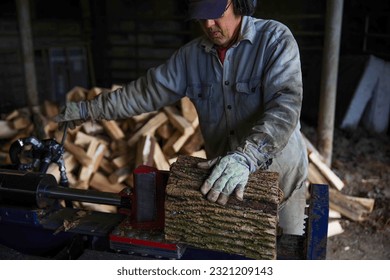
[[[282,198],[278,174],[251,174],[244,201],[232,196],[221,206],[206,200],[199,191],[210,173],[197,168],[202,160],[179,156],[171,166],[165,200],[166,239],[253,259],[275,259],[277,211]]]

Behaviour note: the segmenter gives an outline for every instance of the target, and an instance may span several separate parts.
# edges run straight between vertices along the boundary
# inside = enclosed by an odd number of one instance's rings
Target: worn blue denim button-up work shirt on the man
[[[199,115],[208,158],[239,151],[251,171],[279,173],[288,198],[307,175],[300,134],[302,77],[298,45],[273,20],[244,16],[237,42],[222,64],[206,37],[122,89],[90,101],[93,119],[121,119],[158,110],[188,96]]]

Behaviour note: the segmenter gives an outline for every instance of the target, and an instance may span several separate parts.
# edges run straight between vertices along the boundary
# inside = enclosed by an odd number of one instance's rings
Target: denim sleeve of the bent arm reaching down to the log
[[[250,162],[252,172],[267,169],[284,149],[299,123],[302,106],[299,49],[288,29],[270,45],[265,61],[264,114],[237,148]]]

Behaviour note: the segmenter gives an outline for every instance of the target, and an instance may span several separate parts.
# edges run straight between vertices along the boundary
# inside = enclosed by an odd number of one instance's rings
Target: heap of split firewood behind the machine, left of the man
[[[67,93],[67,101],[91,99],[98,94],[115,90],[94,87],[75,87]],[[63,131],[53,118],[59,107],[45,101],[40,110],[45,138],[61,142]],[[15,110],[0,121],[0,164],[10,164],[10,145],[20,138],[34,134],[34,125],[28,109]],[[195,108],[187,98],[159,111],[145,113],[125,120],[86,122],[68,129],[64,142],[64,160],[70,187],[120,192],[133,186],[133,170],[141,164],[169,170],[178,155],[205,158],[203,138]],[[57,164],[51,164],[48,173],[58,182]],[[116,207],[81,203],[77,207],[115,212]]]

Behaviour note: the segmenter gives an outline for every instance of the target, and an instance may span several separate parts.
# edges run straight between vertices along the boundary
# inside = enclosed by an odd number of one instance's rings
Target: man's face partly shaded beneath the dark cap
[[[230,46],[234,40],[236,32],[240,27],[241,16],[234,14],[231,1],[228,2],[226,10],[218,19],[200,20],[202,30],[214,44],[220,47]]]

